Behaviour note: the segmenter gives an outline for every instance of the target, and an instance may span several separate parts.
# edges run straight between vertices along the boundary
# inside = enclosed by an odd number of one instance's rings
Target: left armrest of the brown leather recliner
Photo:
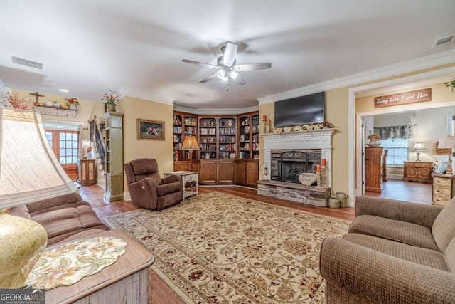
[[[146,177],[139,182],[133,182],[128,185],[128,191],[134,205],[141,208],[156,209],[158,192],[153,179]]]

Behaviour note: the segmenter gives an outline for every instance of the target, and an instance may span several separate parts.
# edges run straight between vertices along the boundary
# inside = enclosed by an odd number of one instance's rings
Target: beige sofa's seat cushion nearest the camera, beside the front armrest
[[[450,268],[444,259],[444,255],[440,251],[419,248],[405,243],[368,236],[366,234],[346,234],[343,236],[343,239],[360,246],[374,249],[375,251],[386,253],[390,256],[395,256],[396,258],[402,258],[403,260],[410,262],[438,268],[442,271],[450,271]]]

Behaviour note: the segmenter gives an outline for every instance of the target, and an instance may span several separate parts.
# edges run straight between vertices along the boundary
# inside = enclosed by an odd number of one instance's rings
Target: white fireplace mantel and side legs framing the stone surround
[[[336,129],[321,129],[299,132],[264,133],[264,162],[272,167],[272,150],[321,149],[321,158],[326,159],[327,184],[331,187],[332,134]],[[269,176],[266,179],[270,179]]]

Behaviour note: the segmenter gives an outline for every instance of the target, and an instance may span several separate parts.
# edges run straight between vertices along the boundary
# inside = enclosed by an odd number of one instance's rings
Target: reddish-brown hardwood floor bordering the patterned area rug
[[[316,206],[307,206],[302,204],[291,203],[281,199],[274,199],[266,196],[257,195],[256,189],[243,188],[243,187],[199,187],[199,194],[207,194],[210,192],[222,192],[225,194],[240,196],[245,199],[252,199],[255,201],[263,201],[269,204],[276,204],[279,206],[286,206],[301,211],[308,211],[314,214],[321,214],[323,216],[331,216],[337,219],[352,221],[355,218],[354,208],[343,209],[328,209]],[[120,214],[127,211],[139,209],[134,206],[131,201],[103,201],[103,194],[105,190],[97,185],[85,186],[80,189],[82,199],[90,203],[93,210],[97,213],[100,219],[105,216]],[[183,300],[173,292],[171,288],[153,271],[149,270],[149,304],[183,304]]]

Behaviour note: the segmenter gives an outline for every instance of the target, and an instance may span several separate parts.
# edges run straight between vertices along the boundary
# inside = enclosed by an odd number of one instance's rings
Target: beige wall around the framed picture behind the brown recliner
[[[161,176],[173,171],[173,105],[126,96],[120,100],[123,117],[124,162],[154,158]],[[137,119],[164,122],[164,140],[138,140]],[[125,179],[124,189],[128,189]]]

